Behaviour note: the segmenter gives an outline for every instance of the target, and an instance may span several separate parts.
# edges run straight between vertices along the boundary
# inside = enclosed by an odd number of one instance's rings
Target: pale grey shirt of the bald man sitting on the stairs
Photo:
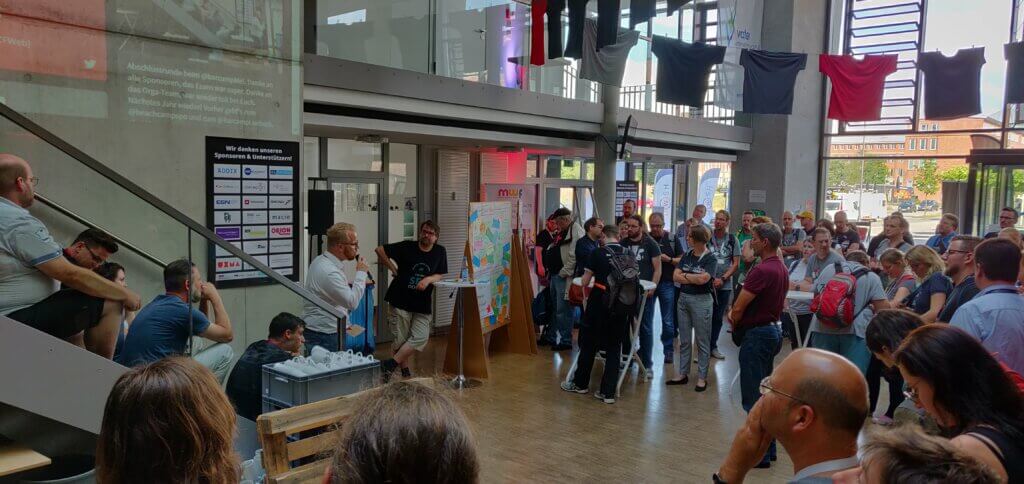
[[[36,304],[60,289],[36,266],[60,257],[39,219],[13,202],[0,197],[0,314]]]

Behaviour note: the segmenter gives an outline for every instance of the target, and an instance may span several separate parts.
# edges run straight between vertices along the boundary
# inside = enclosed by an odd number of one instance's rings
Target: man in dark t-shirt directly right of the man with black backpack
[[[643,230],[643,219],[639,215],[626,219],[626,226],[629,233],[623,238],[623,248],[633,253],[640,266],[640,279],[657,282],[662,280],[662,250],[657,243]],[[640,320],[640,361],[647,368],[644,378],[650,380],[654,376],[651,369],[653,361],[653,319],[654,319],[654,290],[644,294],[647,298],[643,310],[643,317]]]

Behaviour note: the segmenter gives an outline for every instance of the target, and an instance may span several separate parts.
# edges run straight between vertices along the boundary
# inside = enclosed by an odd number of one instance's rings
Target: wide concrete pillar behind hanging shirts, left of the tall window
[[[775,0],[765,8],[765,50],[806,52],[807,68],[797,76],[793,115],[754,115],[751,150],[739,155],[732,171],[732,210],[761,209],[774,220],[783,210],[817,211],[820,176],[822,75],[818,54],[824,45],[826,2]],[[764,190],[764,203],[750,202]]]

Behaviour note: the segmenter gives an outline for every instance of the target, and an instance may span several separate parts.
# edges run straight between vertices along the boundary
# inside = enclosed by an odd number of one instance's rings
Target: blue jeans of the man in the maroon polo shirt
[[[771,376],[775,355],[782,349],[782,332],[774,324],[753,327],[739,345],[739,391],[748,412],[761,398],[761,381]],[[775,456],[775,441],[768,447],[763,463]]]

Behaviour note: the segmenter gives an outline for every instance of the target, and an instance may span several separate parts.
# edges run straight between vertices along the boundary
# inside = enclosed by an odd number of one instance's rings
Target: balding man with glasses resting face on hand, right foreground
[[[826,351],[797,350],[761,383],[761,393],[715,482],[742,482],[773,438],[793,458],[792,483],[831,482],[834,474],[858,466],[867,382],[853,363]]]

